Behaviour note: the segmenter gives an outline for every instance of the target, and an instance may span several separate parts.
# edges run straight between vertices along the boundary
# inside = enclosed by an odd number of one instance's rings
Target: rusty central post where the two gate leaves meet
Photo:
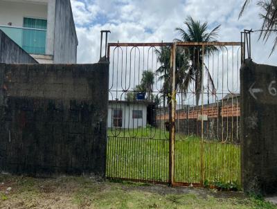
[[[175,182],[175,108],[176,108],[176,44],[171,48],[170,55],[170,81],[171,81],[171,101],[170,101],[170,142],[169,142],[169,183],[174,185]]]

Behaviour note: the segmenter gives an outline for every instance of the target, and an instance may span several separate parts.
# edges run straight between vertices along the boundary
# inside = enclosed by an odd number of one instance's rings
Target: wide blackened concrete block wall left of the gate
[[[108,64],[0,66],[0,171],[105,175]]]

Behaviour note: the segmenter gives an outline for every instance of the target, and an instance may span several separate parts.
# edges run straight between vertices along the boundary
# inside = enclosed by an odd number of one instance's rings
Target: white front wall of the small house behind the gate
[[[138,127],[146,127],[147,125],[147,103],[127,103],[127,102],[109,102],[108,110],[108,127],[114,127],[113,109],[122,110],[122,128],[136,129]],[[133,118],[133,110],[143,111],[142,118]]]

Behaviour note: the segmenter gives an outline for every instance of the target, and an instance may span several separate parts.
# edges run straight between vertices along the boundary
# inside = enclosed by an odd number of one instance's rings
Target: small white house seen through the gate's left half
[[[148,102],[109,101],[108,127],[136,129],[146,127]]]

